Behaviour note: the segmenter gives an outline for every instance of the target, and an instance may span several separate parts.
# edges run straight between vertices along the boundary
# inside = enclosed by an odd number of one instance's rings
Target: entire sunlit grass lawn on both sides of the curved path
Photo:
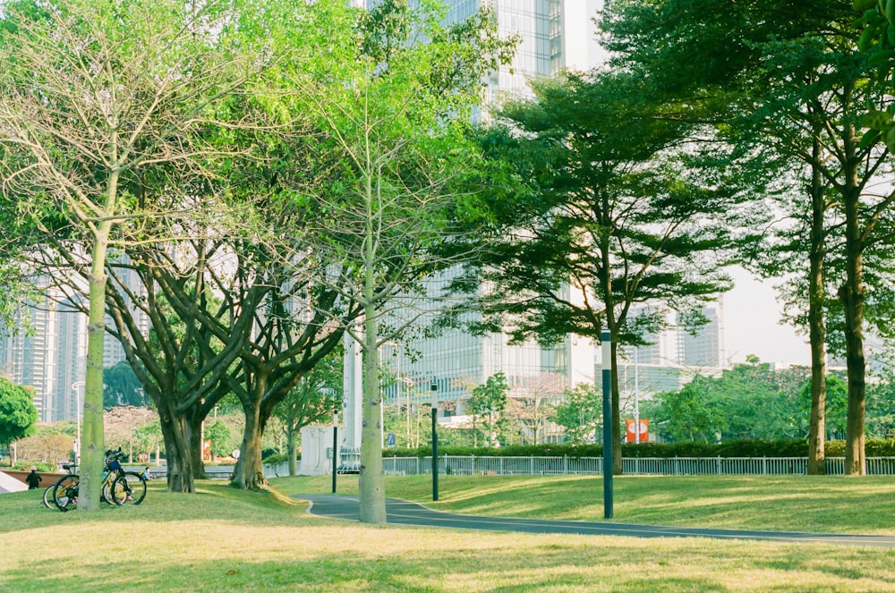
[[[766,516],[798,507],[837,517],[804,521],[818,530],[895,534],[891,479],[761,480],[618,478],[616,521],[791,529],[791,517]],[[330,485],[273,482],[283,494]],[[435,506],[600,519],[600,484],[451,476]],[[352,488],[356,479],[339,478],[341,492]],[[40,495],[0,496],[0,591],[895,591],[887,548],[372,527],[313,517],[277,492],[209,481],[197,495],[167,494],[155,482],[140,506],[98,513],[47,510]],[[422,502],[430,482],[390,478],[388,496]],[[849,498],[869,505],[853,515]],[[861,529],[844,529],[849,517]]]

